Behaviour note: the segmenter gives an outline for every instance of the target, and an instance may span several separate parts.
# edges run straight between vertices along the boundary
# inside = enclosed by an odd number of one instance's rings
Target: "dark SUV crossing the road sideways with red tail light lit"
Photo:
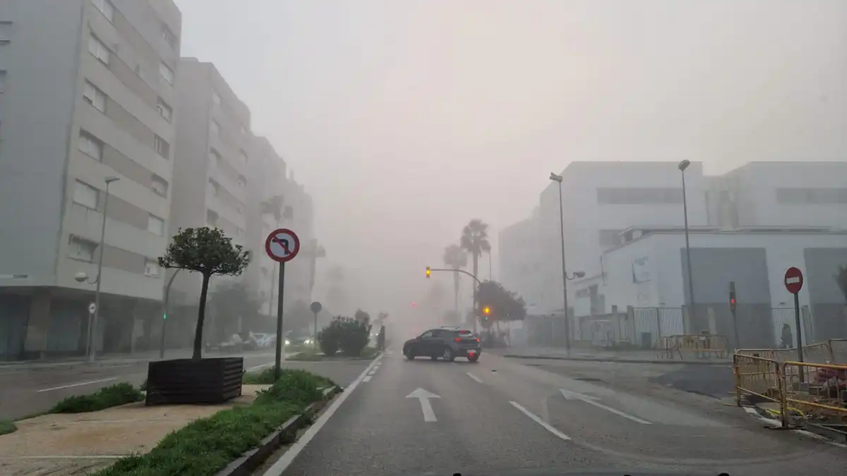
[[[469,362],[477,362],[482,347],[479,337],[470,330],[463,329],[429,329],[424,334],[403,344],[403,355],[412,360],[415,357],[438,357],[446,362],[453,362],[456,357],[468,357]]]

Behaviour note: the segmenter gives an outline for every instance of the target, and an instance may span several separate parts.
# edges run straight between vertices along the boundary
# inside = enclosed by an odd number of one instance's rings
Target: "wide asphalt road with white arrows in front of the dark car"
[[[397,351],[368,368],[265,474],[843,472],[843,447],[765,429],[717,396],[651,381],[679,371],[665,367],[490,354],[479,363],[408,362]]]

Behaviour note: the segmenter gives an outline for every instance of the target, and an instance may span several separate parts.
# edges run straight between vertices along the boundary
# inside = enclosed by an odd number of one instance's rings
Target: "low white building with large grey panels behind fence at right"
[[[635,228],[624,235],[626,243],[603,253],[604,274],[573,282],[574,314],[592,314],[592,301],[604,303],[594,314],[609,313],[612,306],[621,312],[690,307],[684,229]],[[782,324],[794,328],[794,297],[783,283],[790,267],[805,275],[799,295],[800,306],[810,311],[804,339],[847,335],[847,302],[834,279],[839,265],[847,265],[847,230],[701,227],[689,230],[689,241],[695,312],[688,322],[678,313],[678,322],[663,324],[662,335],[710,329],[732,340],[728,289],[734,281],[742,346],[777,345]]]

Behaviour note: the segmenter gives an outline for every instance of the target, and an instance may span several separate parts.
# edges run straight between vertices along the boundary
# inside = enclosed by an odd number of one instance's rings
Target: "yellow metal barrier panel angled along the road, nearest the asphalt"
[[[783,368],[776,360],[750,355],[733,354],[733,374],[735,377],[735,403],[741,407],[743,396],[776,403],[780,410],[780,422],[788,427],[786,402],[784,399],[782,376]]]

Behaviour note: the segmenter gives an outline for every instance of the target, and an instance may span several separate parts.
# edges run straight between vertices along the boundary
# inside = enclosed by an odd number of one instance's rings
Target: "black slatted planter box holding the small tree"
[[[223,403],[241,396],[243,357],[162,360],[147,365],[147,407]]]

